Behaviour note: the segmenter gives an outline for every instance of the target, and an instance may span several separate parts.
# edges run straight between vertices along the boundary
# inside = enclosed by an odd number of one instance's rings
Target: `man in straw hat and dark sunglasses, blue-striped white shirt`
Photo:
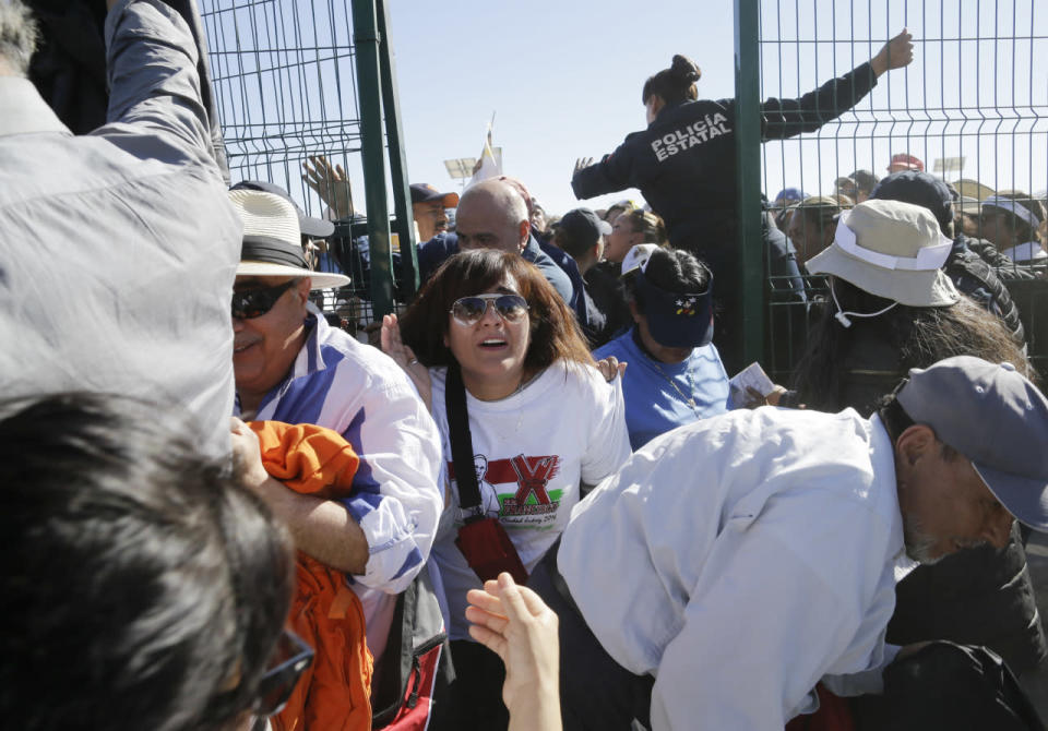
[[[348,278],[308,268],[291,203],[250,189],[228,195],[245,225],[231,312],[236,416],[326,427],[360,457],[349,500],[298,494],[272,479],[263,492],[300,550],[348,575],[378,661],[395,595],[432,546],[442,508],[440,438],[404,372],[330,327],[309,301],[311,289]]]

